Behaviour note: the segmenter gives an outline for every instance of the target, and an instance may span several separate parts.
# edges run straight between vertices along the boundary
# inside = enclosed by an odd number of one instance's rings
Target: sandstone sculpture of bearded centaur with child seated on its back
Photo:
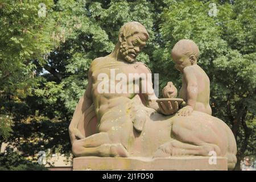
[[[177,89],[172,82],[163,89],[167,102],[156,102],[151,79],[139,76],[151,73],[136,60],[148,38],[141,23],[126,23],[119,31],[114,51],[92,61],[88,86],[69,125],[73,154],[90,156],[88,159],[102,163],[117,158],[122,163],[134,158],[167,161],[179,157],[185,161],[202,156],[203,159],[213,151],[227,159],[229,169],[234,168],[236,140],[225,122],[210,115],[209,78],[196,65],[199,55],[196,44],[181,40],[172,49],[177,69],[184,75],[179,95],[185,106],[175,98]],[[140,164],[135,162],[134,169],[139,169]],[[156,166],[155,169],[161,169],[161,164]]]

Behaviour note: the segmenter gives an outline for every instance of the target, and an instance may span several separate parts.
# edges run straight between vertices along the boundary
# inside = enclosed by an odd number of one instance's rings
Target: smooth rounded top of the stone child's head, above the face
[[[198,59],[200,52],[195,42],[188,39],[182,39],[174,45],[171,54],[183,54],[188,57],[194,55],[196,59]]]

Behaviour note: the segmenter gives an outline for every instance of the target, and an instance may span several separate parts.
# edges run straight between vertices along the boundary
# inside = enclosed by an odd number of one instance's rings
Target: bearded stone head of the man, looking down
[[[136,60],[138,53],[146,46],[149,35],[146,28],[139,22],[125,23],[118,35],[120,53],[127,62]]]

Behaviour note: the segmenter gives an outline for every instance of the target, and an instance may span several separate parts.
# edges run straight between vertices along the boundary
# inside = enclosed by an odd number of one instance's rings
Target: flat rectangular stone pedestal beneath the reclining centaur
[[[210,160],[212,162],[212,160]],[[209,157],[188,156],[171,158],[99,158],[73,159],[73,170],[228,170],[226,158],[217,157],[209,164]]]

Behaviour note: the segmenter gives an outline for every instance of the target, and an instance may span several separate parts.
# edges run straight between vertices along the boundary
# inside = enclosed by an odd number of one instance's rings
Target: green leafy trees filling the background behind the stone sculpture
[[[209,16],[210,3],[217,16]],[[255,11],[253,0],[0,0],[0,142],[20,151],[2,155],[0,166],[10,155],[36,160],[41,150],[70,155],[68,125],[90,63],[112,52],[119,28],[136,20],[150,34],[137,59],[159,73],[160,90],[167,81],[181,86],[174,44],[192,39],[199,46],[213,115],[237,140],[238,169],[243,156],[256,153]]]

